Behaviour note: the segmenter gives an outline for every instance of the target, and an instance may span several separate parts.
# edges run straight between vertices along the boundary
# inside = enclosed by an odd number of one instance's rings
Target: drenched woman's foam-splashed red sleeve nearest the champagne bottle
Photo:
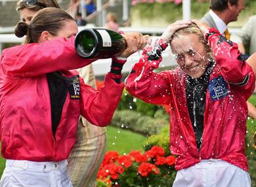
[[[161,52],[167,47],[163,41],[144,49],[142,58],[135,64],[125,80],[125,89],[137,98],[152,104],[169,104],[169,73],[154,73],[162,57]]]

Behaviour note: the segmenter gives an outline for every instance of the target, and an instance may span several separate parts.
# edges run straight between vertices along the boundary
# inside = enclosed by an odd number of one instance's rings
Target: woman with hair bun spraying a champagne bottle
[[[64,10],[39,10],[15,33],[26,35],[28,44],[1,54],[1,153],[7,162],[0,186],[72,186],[66,159],[79,115],[94,125],[110,123],[124,87],[121,67],[137,42],[123,35],[127,48],[112,58],[118,71],[111,70],[96,91],[74,70],[93,60],[75,53],[77,25]]]

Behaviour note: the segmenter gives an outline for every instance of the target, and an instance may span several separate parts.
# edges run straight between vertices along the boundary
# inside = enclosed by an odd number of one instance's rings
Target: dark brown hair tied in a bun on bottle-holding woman
[[[70,14],[58,8],[45,8],[33,16],[30,24],[18,22],[14,33],[17,37],[26,35],[24,43],[37,43],[43,31],[56,36],[67,20],[74,20]],[[75,21],[75,20],[74,20]]]

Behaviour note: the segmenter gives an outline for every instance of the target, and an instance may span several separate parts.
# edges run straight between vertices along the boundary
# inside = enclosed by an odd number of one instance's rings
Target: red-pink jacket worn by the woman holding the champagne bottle
[[[124,85],[106,75],[96,91],[76,71],[90,64],[74,37],[5,49],[0,67],[1,154],[7,159],[60,161],[75,143],[79,115],[106,126]]]

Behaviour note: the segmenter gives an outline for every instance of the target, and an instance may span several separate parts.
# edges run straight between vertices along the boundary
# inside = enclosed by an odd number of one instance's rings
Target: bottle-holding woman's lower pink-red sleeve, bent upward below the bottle
[[[96,91],[89,85],[81,83],[81,115],[90,123],[96,126],[107,126],[119,104],[121,94],[123,93],[123,83],[117,84],[111,78],[110,73],[106,75],[104,86],[100,91]]]

